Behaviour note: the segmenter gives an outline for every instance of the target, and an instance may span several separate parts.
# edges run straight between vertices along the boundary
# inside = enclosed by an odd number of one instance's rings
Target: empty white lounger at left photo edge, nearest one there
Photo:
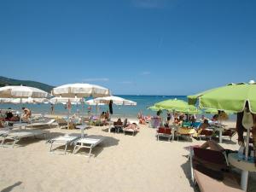
[[[3,140],[1,143],[1,146],[6,147],[7,144],[4,144],[6,141],[12,141],[10,145],[12,147],[15,147],[15,144],[20,141],[22,138],[26,137],[38,137],[38,136],[44,136],[44,139],[46,138],[46,134],[49,131],[42,131],[42,130],[26,130],[26,131],[9,131],[6,134],[2,134]]]

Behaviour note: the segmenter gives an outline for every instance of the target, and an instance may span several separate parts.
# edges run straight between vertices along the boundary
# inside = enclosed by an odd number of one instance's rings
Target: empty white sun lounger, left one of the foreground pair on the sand
[[[56,154],[66,154],[67,146],[72,145],[78,139],[79,139],[79,137],[77,137],[77,136],[68,136],[68,135],[59,136],[59,137],[49,139],[49,141],[48,141],[48,143],[50,143],[49,152],[55,152],[56,148],[53,150],[52,149],[53,145],[58,145],[58,147],[65,145],[64,153],[56,153]]]

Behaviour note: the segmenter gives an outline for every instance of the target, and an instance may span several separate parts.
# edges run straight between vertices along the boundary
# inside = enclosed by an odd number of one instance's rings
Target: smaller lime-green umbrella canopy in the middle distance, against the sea
[[[188,102],[184,102],[183,100],[175,99],[168,99],[163,102],[157,102],[154,104],[156,108],[162,108],[166,110],[176,110],[176,111],[187,111],[189,108],[195,108],[192,106],[189,106]]]

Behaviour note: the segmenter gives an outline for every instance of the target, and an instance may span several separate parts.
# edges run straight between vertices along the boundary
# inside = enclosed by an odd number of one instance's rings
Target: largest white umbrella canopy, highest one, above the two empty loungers
[[[109,96],[110,91],[107,88],[96,84],[64,84],[55,87],[52,94],[54,96],[64,97],[99,97]]]

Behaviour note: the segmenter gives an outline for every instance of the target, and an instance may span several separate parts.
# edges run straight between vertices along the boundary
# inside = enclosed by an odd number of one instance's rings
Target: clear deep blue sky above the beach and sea
[[[0,75],[189,95],[256,80],[256,1],[0,2]]]

